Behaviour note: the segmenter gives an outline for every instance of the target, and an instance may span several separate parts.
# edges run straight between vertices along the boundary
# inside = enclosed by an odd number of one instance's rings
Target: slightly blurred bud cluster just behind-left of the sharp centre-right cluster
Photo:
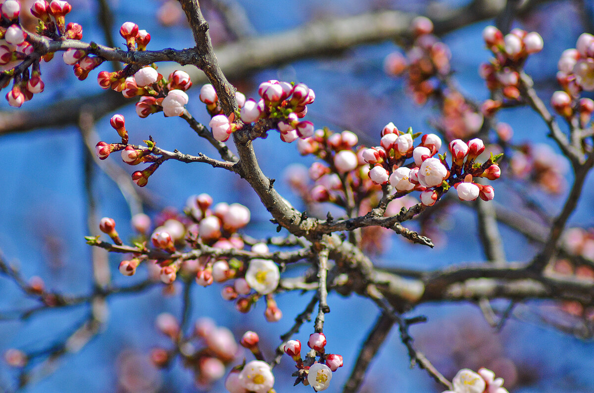
[[[313,154],[325,161],[315,162],[309,168],[309,177],[314,180],[314,185],[304,196],[311,201],[333,202],[344,207],[345,184],[353,189],[355,195],[363,197],[378,189],[364,173],[365,161],[361,157],[361,149],[357,147],[358,142],[353,132],[331,132],[326,128],[299,140],[299,153],[304,156]]]

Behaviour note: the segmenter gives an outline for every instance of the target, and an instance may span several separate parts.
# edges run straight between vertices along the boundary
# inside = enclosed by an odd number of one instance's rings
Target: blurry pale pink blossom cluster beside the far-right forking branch
[[[560,194],[567,186],[567,159],[546,144],[520,145],[510,157],[511,173],[530,180],[550,194]]]

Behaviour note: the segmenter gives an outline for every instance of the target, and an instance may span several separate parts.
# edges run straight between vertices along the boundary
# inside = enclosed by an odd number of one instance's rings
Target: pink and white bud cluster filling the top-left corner
[[[31,14],[39,20],[37,33],[42,36],[56,39],[83,38],[83,28],[78,23],[65,25],[65,15],[72,9],[66,1],[37,0],[31,7]],[[28,33],[20,24],[19,15],[21,5],[17,0],[6,0],[0,5],[2,26],[0,27],[0,69],[10,70],[28,59],[34,52],[34,47],[27,40]],[[84,53],[83,53],[84,55]],[[81,56],[82,57],[82,56]],[[43,56],[45,61],[50,61],[53,53]],[[33,94],[41,93],[44,88],[41,80],[39,66],[40,59],[35,59],[30,64],[30,69],[15,72],[12,75],[12,88],[8,91],[6,99],[10,106],[20,107],[24,102],[33,98]]]

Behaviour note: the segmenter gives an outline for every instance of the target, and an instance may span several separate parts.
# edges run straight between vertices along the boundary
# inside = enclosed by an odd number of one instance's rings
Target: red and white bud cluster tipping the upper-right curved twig
[[[479,74],[489,90],[500,92],[503,99],[519,99],[520,72],[528,55],[542,50],[542,37],[535,31],[528,33],[520,28],[514,28],[504,36],[497,27],[487,26],[483,30],[483,39],[495,58],[482,64]],[[485,112],[492,114],[502,104],[501,100],[489,101]]]

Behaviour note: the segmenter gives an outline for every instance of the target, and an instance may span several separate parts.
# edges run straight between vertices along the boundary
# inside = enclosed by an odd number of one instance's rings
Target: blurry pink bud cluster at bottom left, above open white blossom
[[[157,316],[156,327],[170,338],[182,357],[184,367],[192,370],[198,386],[208,388],[225,376],[226,367],[241,353],[233,333],[225,327],[217,327],[210,318],[198,319],[195,328],[183,337],[177,319],[169,314]],[[182,344],[178,344],[181,341]],[[151,360],[157,367],[165,367],[176,353],[175,348],[166,350],[159,347],[151,351]]]

